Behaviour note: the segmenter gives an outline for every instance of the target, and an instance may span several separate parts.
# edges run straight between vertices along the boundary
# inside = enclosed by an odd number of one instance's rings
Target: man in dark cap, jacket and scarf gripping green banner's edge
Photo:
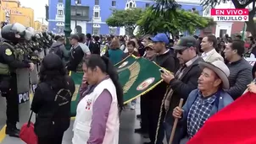
[[[164,129],[168,142],[174,122],[172,110],[179,104],[180,99],[186,100],[188,94],[198,87],[198,77],[202,72],[198,62],[203,61],[203,58],[198,56],[196,45],[197,40],[194,37],[182,37],[173,47],[182,67],[175,74],[168,72],[161,75],[164,82],[170,84],[170,89],[164,97],[164,109],[167,112]]]

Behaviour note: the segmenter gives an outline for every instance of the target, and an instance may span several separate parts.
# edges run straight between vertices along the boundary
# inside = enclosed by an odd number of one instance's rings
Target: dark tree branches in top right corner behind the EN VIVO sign
[[[202,5],[204,8],[214,8],[216,5],[225,2],[232,2],[235,8],[247,8],[252,4],[253,8],[249,11],[247,30],[253,35],[253,38],[256,38],[256,23],[253,21],[253,17],[256,13],[255,0],[202,0]]]

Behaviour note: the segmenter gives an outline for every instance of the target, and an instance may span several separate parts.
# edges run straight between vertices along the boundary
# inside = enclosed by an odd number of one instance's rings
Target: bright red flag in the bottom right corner
[[[207,120],[186,144],[256,144],[256,94],[245,93]]]

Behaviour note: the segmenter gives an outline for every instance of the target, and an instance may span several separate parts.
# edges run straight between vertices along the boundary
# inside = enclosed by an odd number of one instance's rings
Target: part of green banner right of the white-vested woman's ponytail
[[[118,68],[119,80],[124,90],[125,104],[147,93],[162,82],[159,66],[144,58],[136,58],[136,61],[130,62],[131,57],[122,61],[120,63],[122,67]]]

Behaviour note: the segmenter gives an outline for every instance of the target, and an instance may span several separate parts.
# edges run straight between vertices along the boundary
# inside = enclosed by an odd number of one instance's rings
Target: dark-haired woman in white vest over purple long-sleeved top
[[[123,89],[118,73],[105,56],[83,63],[81,101],[77,105],[73,144],[118,144]]]

